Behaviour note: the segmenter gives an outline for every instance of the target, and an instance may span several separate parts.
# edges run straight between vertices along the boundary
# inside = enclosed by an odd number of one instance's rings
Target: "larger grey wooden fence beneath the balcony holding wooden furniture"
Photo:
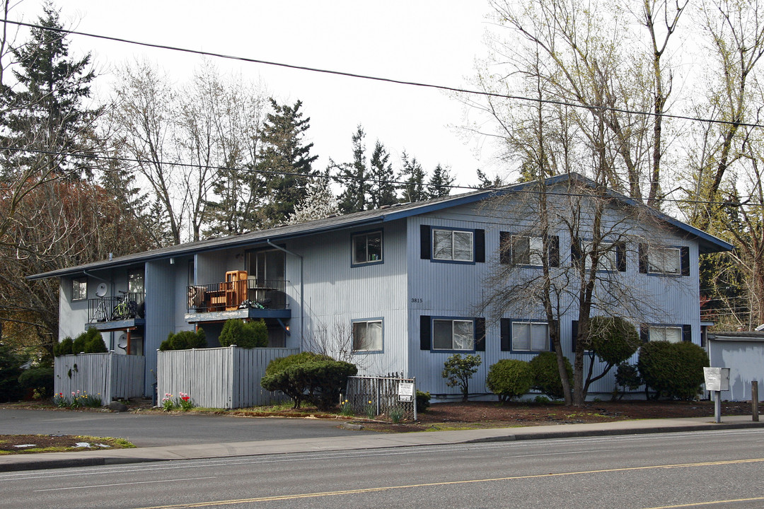
[[[185,392],[197,407],[246,408],[288,399],[260,385],[268,362],[296,348],[202,348],[157,352],[157,397]]]

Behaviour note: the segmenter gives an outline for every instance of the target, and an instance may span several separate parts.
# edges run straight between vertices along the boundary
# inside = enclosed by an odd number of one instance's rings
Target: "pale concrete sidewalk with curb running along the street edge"
[[[566,437],[599,437],[640,433],[669,433],[699,430],[730,430],[764,427],[764,421],[753,422],[751,416],[684,419],[620,420],[599,424],[560,424],[552,426],[493,428],[486,430],[425,431],[414,433],[354,434],[343,437],[267,440],[239,443],[202,443],[184,446],[143,447],[138,449],[94,450],[76,453],[39,453],[0,456],[0,472],[57,469],[73,466],[117,465],[173,459],[208,459],[228,456],[260,456],[265,454],[313,453],[384,447],[432,446],[452,443],[500,442],[510,440],[542,440]]]

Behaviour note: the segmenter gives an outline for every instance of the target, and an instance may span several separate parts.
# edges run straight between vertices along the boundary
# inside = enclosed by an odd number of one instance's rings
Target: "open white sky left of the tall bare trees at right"
[[[9,14],[13,21],[34,22],[41,0],[22,0]],[[484,0],[270,0],[199,2],[197,0],[59,0],[65,27],[190,50],[244,56],[452,87],[468,86],[474,60],[484,51]],[[99,73],[97,93],[108,95],[113,69],[131,60],[156,63],[173,81],[183,83],[202,56],[70,36],[70,54],[90,52]],[[478,183],[475,170],[503,175],[494,147],[468,137],[465,108],[445,92],[374,82],[257,63],[211,58],[222,74],[261,80],[277,101],[303,101],[309,116],[309,140],[324,169],[352,159],[351,135],[358,124],[366,132],[367,156],[375,140],[400,168],[406,150],[427,172],[449,166],[456,184]],[[470,87],[471,88],[471,87]]]

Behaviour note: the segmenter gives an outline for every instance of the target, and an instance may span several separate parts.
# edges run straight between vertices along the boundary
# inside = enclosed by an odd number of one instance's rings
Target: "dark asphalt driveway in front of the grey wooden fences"
[[[27,433],[119,437],[138,447],[151,447],[341,437],[359,432],[342,430],[337,421],[323,419],[0,409],[0,435]]]

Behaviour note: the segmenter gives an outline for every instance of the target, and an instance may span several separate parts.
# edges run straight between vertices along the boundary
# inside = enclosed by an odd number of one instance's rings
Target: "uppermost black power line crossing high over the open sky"
[[[483,90],[461,89],[458,87],[453,87],[448,85],[435,85],[433,83],[413,82],[413,81],[408,81],[404,79],[386,78],[383,76],[370,76],[366,74],[358,74],[357,72],[337,71],[333,69],[321,69],[319,67],[311,67],[311,66],[298,66],[296,64],[273,62],[270,60],[255,59],[255,58],[250,58],[247,56],[235,56],[235,55],[226,55],[225,53],[213,53],[211,51],[190,50],[189,48],[167,46],[166,44],[146,43],[146,42],[142,42],[138,40],[125,39],[123,37],[112,37],[108,35],[90,34],[88,32],[67,30],[66,28],[44,27],[38,24],[24,23],[22,21],[11,21],[7,19],[0,19],[0,22],[15,24],[20,27],[29,27],[29,28],[37,28],[40,30],[53,31],[53,32],[58,32],[60,34],[81,35],[83,37],[92,37],[95,39],[112,40],[119,43],[135,44],[137,46],[151,47],[151,48],[156,48],[159,50],[180,51],[183,53],[192,53],[192,54],[200,55],[200,56],[214,56],[216,58],[223,58],[227,60],[239,60],[241,62],[260,63],[266,66],[277,66],[277,67],[284,67],[286,69],[296,69],[301,71],[321,72],[323,74],[345,76],[346,78],[369,79],[369,80],[377,81],[377,82],[393,83],[395,85],[417,86],[417,87],[422,87],[426,89],[439,89],[439,90],[445,90],[448,92],[458,92],[458,93],[469,94],[469,95],[484,95],[486,97],[507,98],[507,99],[512,99],[515,101],[526,101],[526,102],[535,102],[535,103],[547,104],[547,105],[568,106],[570,108],[582,108],[582,109],[593,110],[593,111],[610,111],[613,113],[635,114],[635,115],[643,115],[647,117],[674,118],[677,120],[704,122],[707,124],[725,124],[725,125],[733,125],[738,127],[764,127],[764,124],[750,124],[748,122],[714,120],[711,118],[690,117],[688,115],[655,113],[653,111],[636,111],[636,110],[629,110],[625,108],[613,108],[610,106],[581,105],[578,103],[568,102],[568,101],[556,101],[554,99],[529,98],[529,97],[523,97],[522,95],[508,95],[508,94],[500,94],[498,92],[485,92]]]

